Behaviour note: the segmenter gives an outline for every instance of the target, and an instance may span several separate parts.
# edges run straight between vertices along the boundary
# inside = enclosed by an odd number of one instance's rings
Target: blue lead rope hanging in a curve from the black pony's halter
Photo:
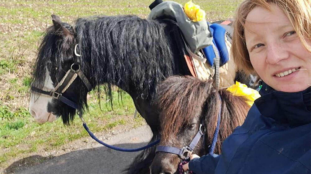
[[[81,117],[80,117],[81,118]],[[82,119],[81,119],[82,120]],[[83,127],[85,128],[85,130],[90,134],[90,136],[97,142],[99,142],[100,144],[110,148],[110,149],[113,149],[113,150],[118,150],[118,151],[122,151],[122,152],[137,152],[137,151],[140,151],[140,150],[144,150],[144,149],[147,149],[151,146],[154,146],[156,144],[158,144],[160,142],[160,139],[159,140],[156,140],[155,142],[151,143],[151,144],[148,144],[146,146],[143,146],[143,147],[140,147],[140,148],[137,148],[137,149],[124,149],[124,148],[120,148],[120,147],[116,147],[116,146],[111,146],[109,144],[106,144],[104,143],[103,141],[100,141],[98,138],[95,137],[95,135],[90,131],[90,129],[87,127],[86,123],[84,122],[84,120],[82,120],[83,122]]]

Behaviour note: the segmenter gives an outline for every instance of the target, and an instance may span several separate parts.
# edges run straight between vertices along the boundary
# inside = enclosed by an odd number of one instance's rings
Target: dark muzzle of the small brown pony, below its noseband
[[[150,166],[151,174],[174,174],[177,173],[180,158],[176,154],[166,152],[156,153]]]

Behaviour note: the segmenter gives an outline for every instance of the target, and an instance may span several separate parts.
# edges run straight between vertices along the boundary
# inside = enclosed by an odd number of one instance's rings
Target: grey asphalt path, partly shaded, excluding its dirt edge
[[[114,135],[105,143],[123,148],[146,145],[152,137],[147,125]],[[119,152],[100,144],[81,148],[48,159],[27,168],[14,171],[16,174],[121,174],[140,152]],[[25,160],[25,159],[24,159]]]

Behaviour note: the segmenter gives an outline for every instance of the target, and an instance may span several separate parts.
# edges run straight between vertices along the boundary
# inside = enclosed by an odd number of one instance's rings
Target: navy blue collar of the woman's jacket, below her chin
[[[311,87],[300,92],[286,93],[262,83],[259,94],[261,97],[255,100],[255,104],[262,115],[291,127],[311,123]]]

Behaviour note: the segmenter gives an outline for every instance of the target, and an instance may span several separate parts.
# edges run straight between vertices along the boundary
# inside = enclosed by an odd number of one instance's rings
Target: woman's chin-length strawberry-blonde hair
[[[271,10],[272,4],[284,11],[298,34],[301,43],[311,52],[311,47],[308,44],[311,41],[311,0],[245,0],[236,10],[231,51],[238,68],[246,73],[254,73],[254,69],[249,60],[245,43],[245,19],[248,13],[255,7]]]

